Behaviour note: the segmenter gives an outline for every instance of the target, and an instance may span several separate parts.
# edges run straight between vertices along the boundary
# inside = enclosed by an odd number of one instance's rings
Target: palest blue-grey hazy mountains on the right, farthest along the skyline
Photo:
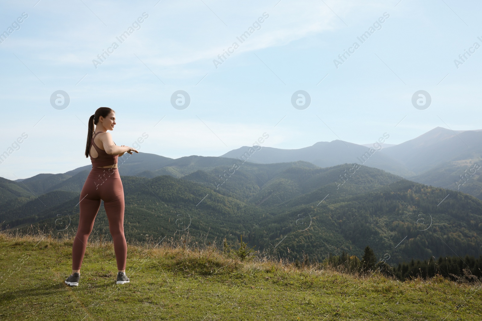
[[[454,189],[455,181],[466,175],[466,169],[479,162],[482,165],[482,129],[451,130],[434,128],[401,144],[381,144],[364,166],[383,169],[403,178],[437,187]],[[267,164],[291,161],[307,161],[320,167],[342,163],[361,164],[360,156],[373,144],[357,145],[345,141],[320,141],[300,149],[263,147],[248,162]],[[239,157],[248,146],[229,151],[220,157]],[[470,166],[470,167],[469,167]],[[482,199],[482,180],[479,173],[470,176],[464,184],[465,193]]]

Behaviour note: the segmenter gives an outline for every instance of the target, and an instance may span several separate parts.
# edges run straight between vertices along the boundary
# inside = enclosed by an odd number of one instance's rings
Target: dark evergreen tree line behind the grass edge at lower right
[[[306,263],[305,263],[306,264]],[[391,267],[384,258],[377,259],[374,251],[365,247],[362,258],[349,256],[343,251],[341,256],[329,255],[323,260],[325,266],[333,266],[346,272],[368,273],[379,271],[386,275],[396,277],[401,281],[413,278],[431,278],[440,275],[444,278],[457,281],[461,278],[470,281],[474,277],[482,278],[482,256],[475,258],[466,255],[464,258],[453,257],[430,257],[428,260],[414,260],[400,263]],[[472,280],[473,281],[473,280]]]

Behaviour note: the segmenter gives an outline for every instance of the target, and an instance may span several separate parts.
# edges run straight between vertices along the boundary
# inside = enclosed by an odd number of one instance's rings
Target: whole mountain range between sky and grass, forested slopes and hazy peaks
[[[316,260],[342,251],[361,256],[369,245],[388,264],[454,253],[477,257],[482,202],[468,194],[482,198],[481,135],[435,128],[371,156],[370,147],[344,141],[263,147],[249,157],[242,157],[249,147],[222,157],[125,154],[119,172],[126,238],[161,240],[189,231],[238,243],[242,234],[269,255]],[[2,228],[39,224],[74,233],[90,168],[0,178]],[[110,237],[102,206],[94,233]]]

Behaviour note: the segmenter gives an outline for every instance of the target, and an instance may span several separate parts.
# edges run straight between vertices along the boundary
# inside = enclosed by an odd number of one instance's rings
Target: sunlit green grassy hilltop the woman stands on
[[[116,285],[113,246],[89,243],[78,287],[72,239],[0,233],[0,320],[482,320],[481,284],[239,261],[213,245],[128,245]]]

